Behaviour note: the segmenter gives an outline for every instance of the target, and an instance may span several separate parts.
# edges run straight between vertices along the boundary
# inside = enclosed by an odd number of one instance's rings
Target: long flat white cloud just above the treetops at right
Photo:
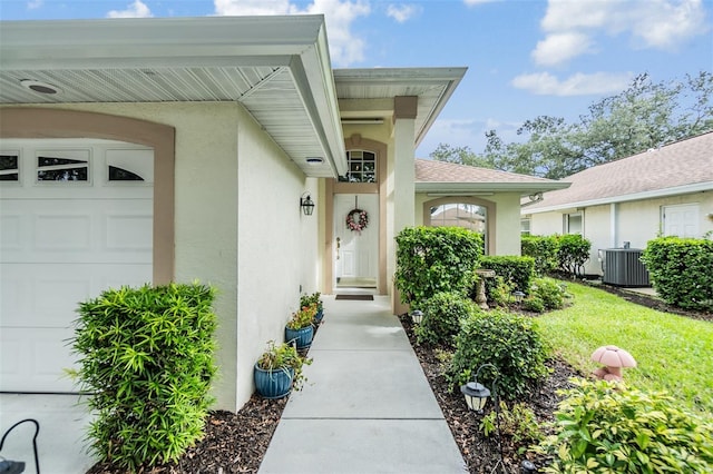
[[[578,72],[560,80],[549,72],[536,72],[518,76],[511,83],[517,89],[525,89],[538,96],[599,96],[626,89],[632,78],[632,72]]]

